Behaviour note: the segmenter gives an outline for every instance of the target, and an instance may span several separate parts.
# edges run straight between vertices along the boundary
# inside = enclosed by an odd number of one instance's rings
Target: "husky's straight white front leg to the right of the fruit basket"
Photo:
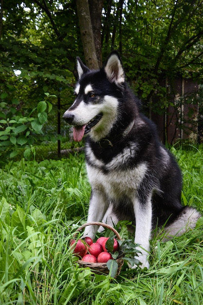
[[[151,197],[143,204],[139,199],[134,202],[134,212],[135,212],[135,244],[139,244],[140,250],[139,261],[141,262],[141,267],[149,268],[148,263],[148,253],[149,253],[149,240],[151,235],[151,222],[152,222],[152,207],[151,207]],[[133,266],[136,267],[136,266]]]

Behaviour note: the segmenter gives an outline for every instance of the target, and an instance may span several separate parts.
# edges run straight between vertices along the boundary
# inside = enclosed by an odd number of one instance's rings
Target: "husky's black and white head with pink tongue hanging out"
[[[94,141],[107,136],[119,116],[125,82],[120,56],[113,51],[102,69],[92,71],[77,57],[78,82],[75,101],[63,114],[74,125],[74,140],[81,141],[90,134]]]

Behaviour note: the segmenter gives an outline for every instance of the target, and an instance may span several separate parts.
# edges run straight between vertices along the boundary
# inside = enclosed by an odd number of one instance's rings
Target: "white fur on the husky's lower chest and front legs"
[[[142,255],[139,259],[143,267],[149,267],[147,255],[149,252],[151,232],[151,197],[149,196],[146,209],[143,210],[139,198],[135,196],[135,190],[139,188],[139,184],[147,172],[147,164],[141,164],[131,171],[121,172],[116,170],[116,167],[118,167],[117,161],[119,159],[122,160],[123,156],[117,156],[116,159],[111,161],[111,172],[108,174],[103,174],[100,169],[95,169],[95,167],[87,165],[88,177],[93,190],[87,221],[101,221],[103,218],[103,221],[107,221],[110,225],[117,223],[117,217],[114,216],[111,210],[112,207],[109,208],[109,201],[105,193],[108,194],[109,198],[113,198],[114,200],[119,200],[127,193],[133,202],[135,213],[136,230],[134,241],[142,247],[140,248]],[[95,162],[97,163],[96,159]],[[112,170],[113,167],[114,169]],[[93,238],[97,229],[96,226],[86,227],[84,236],[87,235]]]

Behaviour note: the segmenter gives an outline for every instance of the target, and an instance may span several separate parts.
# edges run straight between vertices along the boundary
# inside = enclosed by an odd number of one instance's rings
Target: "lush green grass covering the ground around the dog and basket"
[[[182,199],[203,212],[203,147],[171,148]],[[82,269],[69,248],[90,197],[84,156],[8,163],[0,170],[0,304],[202,305],[203,220],[172,241],[151,241],[150,268],[116,279]],[[125,230],[122,234],[126,234]]]

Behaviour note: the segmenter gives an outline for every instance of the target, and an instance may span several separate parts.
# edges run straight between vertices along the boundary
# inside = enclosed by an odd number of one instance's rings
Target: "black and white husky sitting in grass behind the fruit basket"
[[[166,223],[168,235],[194,228],[197,210],[181,204],[182,176],[158,140],[154,124],[140,113],[139,100],[125,82],[121,58],[112,52],[100,70],[77,57],[74,104],[63,118],[74,125],[74,140],[86,137],[86,163],[92,192],[88,222],[136,224],[142,267],[149,267],[151,230]],[[86,227],[94,237],[98,228]]]

